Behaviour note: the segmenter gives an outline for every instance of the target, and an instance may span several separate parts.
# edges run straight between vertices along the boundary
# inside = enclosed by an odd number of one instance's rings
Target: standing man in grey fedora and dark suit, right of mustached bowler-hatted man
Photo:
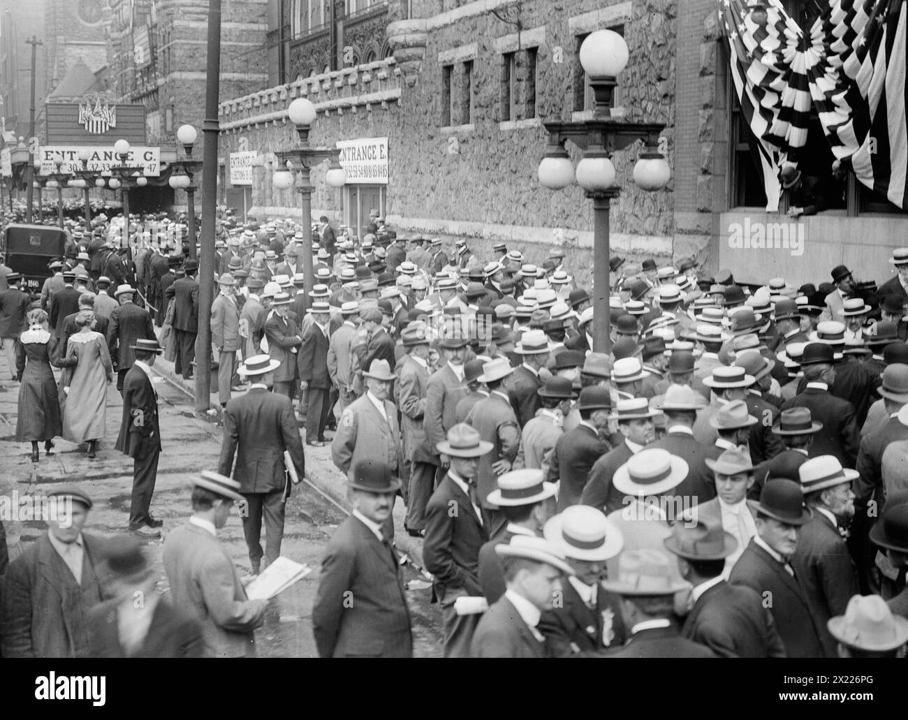
[[[441,603],[445,657],[468,657],[469,643],[479,622],[475,615],[458,615],[459,597],[482,595],[479,549],[489,539],[489,518],[476,492],[479,458],[492,450],[490,442],[465,423],[448,431],[439,453],[449,469],[426,507],[426,540],[422,558],[434,577],[432,598]]]

